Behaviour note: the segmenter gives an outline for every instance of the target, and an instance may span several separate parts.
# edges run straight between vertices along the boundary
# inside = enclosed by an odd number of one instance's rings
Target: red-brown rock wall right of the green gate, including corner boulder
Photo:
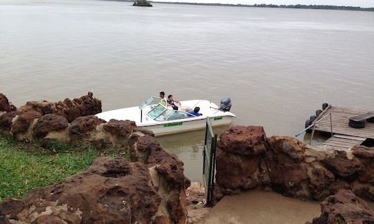
[[[373,211],[357,197],[374,200],[374,148],[319,151],[295,138],[267,138],[262,127],[234,126],[217,143],[216,161],[216,200],[267,189],[303,200],[325,199],[313,223],[374,222]]]

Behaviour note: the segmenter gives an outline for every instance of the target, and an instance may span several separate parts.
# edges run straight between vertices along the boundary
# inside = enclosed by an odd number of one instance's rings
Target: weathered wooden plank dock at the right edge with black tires
[[[363,129],[349,127],[349,118],[368,113],[368,111],[329,105],[314,120],[314,131],[332,133],[333,136],[320,144],[318,149],[350,150],[356,144],[362,144],[366,139],[374,139],[374,123],[366,122]],[[327,116],[326,116],[327,115]],[[330,120],[331,116],[331,120]],[[321,120],[324,118],[323,120]],[[331,128],[332,126],[332,128]]]

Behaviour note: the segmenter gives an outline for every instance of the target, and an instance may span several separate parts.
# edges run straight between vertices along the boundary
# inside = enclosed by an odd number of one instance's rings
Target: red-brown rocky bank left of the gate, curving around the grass
[[[57,103],[28,102],[19,109],[12,109],[4,95],[0,102],[0,131],[16,140],[114,144],[127,148],[132,158],[99,157],[60,183],[33,189],[19,200],[6,198],[0,223],[186,223],[190,181],[183,162],[134,122],[96,118],[101,102],[92,93]]]

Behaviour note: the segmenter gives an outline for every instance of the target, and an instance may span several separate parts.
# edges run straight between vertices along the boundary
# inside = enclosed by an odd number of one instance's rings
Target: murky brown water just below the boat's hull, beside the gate
[[[213,128],[214,133],[220,135],[231,125]],[[191,181],[202,183],[203,156],[205,130],[179,133],[172,136],[157,137],[161,147],[178,156],[184,162],[184,175]]]

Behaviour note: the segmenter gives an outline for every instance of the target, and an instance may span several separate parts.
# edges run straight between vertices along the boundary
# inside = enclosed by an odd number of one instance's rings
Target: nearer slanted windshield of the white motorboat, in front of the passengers
[[[185,111],[175,111],[172,109],[168,109],[166,106],[163,106],[162,104],[154,106],[154,108],[150,110],[150,112],[148,112],[147,115],[153,120],[159,122],[197,117],[196,115],[187,113]]]

